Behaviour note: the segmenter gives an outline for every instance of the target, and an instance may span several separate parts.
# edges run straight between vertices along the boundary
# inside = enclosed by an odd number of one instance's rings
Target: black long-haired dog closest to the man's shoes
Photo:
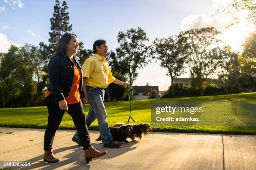
[[[131,125],[121,125],[118,127],[109,127],[110,133],[113,136],[113,139],[117,142],[128,143],[128,136],[131,135]],[[97,141],[102,140],[101,136],[96,139]],[[103,142],[103,140],[102,140]]]

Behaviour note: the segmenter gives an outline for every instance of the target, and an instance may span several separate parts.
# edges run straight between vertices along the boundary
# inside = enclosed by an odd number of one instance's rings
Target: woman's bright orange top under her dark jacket
[[[74,104],[79,102],[80,100],[80,94],[79,94],[79,83],[81,81],[82,73],[77,68],[77,66],[74,64],[74,80],[73,84],[69,93],[69,97],[65,97],[65,100],[67,101],[67,104]],[[51,91],[46,90],[46,94],[44,98],[49,96],[51,94]]]

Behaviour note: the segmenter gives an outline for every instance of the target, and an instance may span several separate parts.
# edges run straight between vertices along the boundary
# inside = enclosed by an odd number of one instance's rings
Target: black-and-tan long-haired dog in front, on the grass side
[[[125,123],[115,123],[113,127],[121,127],[127,125]],[[147,135],[148,132],[152,132],[152,128],[148,123],[140,123],[140,124],[129,124],[131,126],[131,134],[128,135],[128,138],[134,140],[135,138],[143,138],[144,135]]]

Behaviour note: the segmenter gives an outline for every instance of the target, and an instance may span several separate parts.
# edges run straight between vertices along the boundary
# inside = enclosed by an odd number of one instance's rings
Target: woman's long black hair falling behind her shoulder
[[[59,43],[56,47],[56,52],[53,57],[56,55],[61,55],[63,57],[67,56],[67,45],[69,44],[69,41],[72,39],[72,36],[77,37],[74,33],[66,32],[63,34],[59,40]]]

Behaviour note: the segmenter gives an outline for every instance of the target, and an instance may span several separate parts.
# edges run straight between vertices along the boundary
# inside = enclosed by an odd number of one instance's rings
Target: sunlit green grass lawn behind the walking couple
[[[256,101],[256,92],[203,96],[203,97],[180,97],[169,99],[135,100],[132,101],[132,117],[136,122],[147,122],[151,124],[151,101],[213,101],[218,107],[222,101]],[[87,114],[90,105],[84,106]],[[108,113],[108,124],[112,126],[115,122],[127,122],[129,117],[129,101],[106,102],[105,107]],[[26,107],[26,108],[6,108],[0,109],[0,127],[14,128],[46,128],[47,108],[46,107]],[[221,133],[221,134],[247,134],[256,135],[256,126],[152,126],[154,132],[182,132],[182,133]],[[59,129],[75,129],[72,117],[65,112]],[[98,130],[97,120],[92,123],[90,130]]]

